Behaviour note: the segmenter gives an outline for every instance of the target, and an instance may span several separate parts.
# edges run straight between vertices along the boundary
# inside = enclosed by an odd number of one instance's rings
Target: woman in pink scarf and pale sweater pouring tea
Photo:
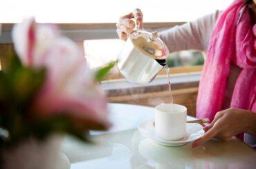
[[[126,40],[135,18],[143,28],[140,10],[120,17],[116,24]],[[244,141],[256,148],[256,0],[235,0],[223,12],[160,32],[170,52],[202,50],[207,53],[199,85],[196,117],[210,118],[200,146],[212,137],[228,141],[246,133]],[[241,135],[239,135],[241,137]]]

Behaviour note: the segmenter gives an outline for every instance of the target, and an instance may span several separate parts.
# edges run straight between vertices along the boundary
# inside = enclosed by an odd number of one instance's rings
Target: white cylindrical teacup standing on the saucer
[[[179,140],[186,133],[187,108],[173,103],[155,107],[155,133],[161,139]]]

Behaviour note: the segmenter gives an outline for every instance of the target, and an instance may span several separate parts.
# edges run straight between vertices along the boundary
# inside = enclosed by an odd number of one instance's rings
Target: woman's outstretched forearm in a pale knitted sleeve
[[[182,26],[175,26],[160,32],[160,38],[169,48],[170,52],[180,50],[206,51],[210,34],[221,12],[205,15],[195,21],[190,21]]]

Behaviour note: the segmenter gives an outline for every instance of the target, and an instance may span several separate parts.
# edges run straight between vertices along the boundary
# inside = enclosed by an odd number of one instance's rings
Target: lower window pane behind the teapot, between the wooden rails
[[[84,52],[90,68],[98,68],[116,61],[124,43],[120,39],[85,40]],[[203,61],[203,52],[196,50],[174,52],[167,57],[167,64],[170,68],[199,66],[203,65]]]

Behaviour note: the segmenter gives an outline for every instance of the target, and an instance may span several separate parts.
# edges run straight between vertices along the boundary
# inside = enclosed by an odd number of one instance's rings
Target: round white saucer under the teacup
[[[204,134],[203,126],[201,126],[199,123],[186,123],[186,136],[183,137],[183,139],[179,139],[176,141],[168,141],[160,139],[155,135],[155,128],[153,122],[154,119],[144,121],[138,127],[138,131],[140,132],[140,135],[143,135],[143,137],[152,139],[156,141],[156,143],[159,143],[163,146],[182,146],[191,141],[199,139]]]

